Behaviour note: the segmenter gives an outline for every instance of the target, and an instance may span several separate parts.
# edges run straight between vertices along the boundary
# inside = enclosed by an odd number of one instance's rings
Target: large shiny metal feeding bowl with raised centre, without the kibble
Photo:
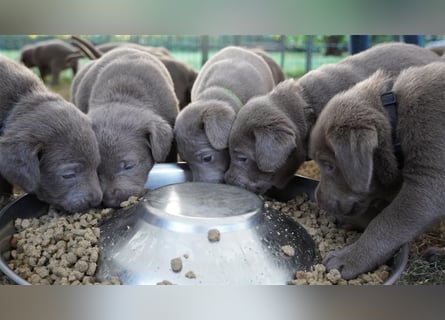
[[[157,164],[150,172],[142,201],[117,210],[101,226],[97,278],[118,276],[124,284],[286,284],[296,270],[317,261],[314,242],[293,219],[265,209],[253,193],[222,184],[191,183],[185,164]],[[286,201],[301,193],[313,197],[317,181],[295,176],[284,190],[269,195]],[[43,215],[48,205],[25,195],[0,211],[0,252],[10,249],[16,218]],[[221,239],[211,242],[210,229]],[[287,256],[282,246],[291,245]],[[2,255],[3,256],[3,255]],[[393,284],[408,257],[404,246],[394,256]],[[171,260],[181,258],[174,272]],[[0,270],[17,284],[29,284],[0,258]],[[196,278],[185,274],[193,271]]]

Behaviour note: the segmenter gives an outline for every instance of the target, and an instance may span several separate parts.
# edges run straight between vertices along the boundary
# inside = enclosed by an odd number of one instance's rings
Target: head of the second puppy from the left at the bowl
[[[170,151],[172,128],[149,110],[110,106],[90,115],[101,155],[98,174],[103,203],[118,207],[144,191],[154,163],[164,161]]]

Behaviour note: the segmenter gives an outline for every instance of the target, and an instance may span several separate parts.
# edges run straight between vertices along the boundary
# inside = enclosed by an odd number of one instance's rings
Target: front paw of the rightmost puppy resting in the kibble
[[[327,270],[337,269],[343,279],[350,280],[375,267],[369,259],[369,254],[369,252],[361,253],[356,245],[351,244],[328,253],[323,264]]]

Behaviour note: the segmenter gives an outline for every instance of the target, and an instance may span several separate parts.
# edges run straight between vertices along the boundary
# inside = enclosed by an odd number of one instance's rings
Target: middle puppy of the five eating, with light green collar
[[[270,68],[250,50],[226,47],[204,64],[192,102],[181,110],[174,128],[179,156],[189,164],[193,181],[223,182],[229,132],[238,110],[273,87]]]

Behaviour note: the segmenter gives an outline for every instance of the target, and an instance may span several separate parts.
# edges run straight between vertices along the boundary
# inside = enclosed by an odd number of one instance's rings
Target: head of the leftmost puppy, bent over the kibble
[[[37,100],[36,100],[37,101]],[[0,138],[0,172],[12,184],[69,212],[100,204],[99,148],[91,123],[61,99],[33,101]],[[26,103],[26,102],[25,102]]]

